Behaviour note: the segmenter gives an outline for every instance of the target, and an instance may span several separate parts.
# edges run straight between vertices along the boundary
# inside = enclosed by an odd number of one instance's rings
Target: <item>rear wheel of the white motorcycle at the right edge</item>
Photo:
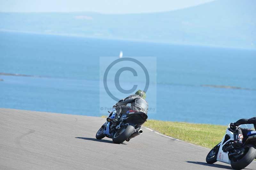
[[[231,166],[233,169],[244,169],[254,158],[256,158],[256,149],[254,145],[245,145],[242,148],[244,148],[244,154],[238,159],[231,159]]]

